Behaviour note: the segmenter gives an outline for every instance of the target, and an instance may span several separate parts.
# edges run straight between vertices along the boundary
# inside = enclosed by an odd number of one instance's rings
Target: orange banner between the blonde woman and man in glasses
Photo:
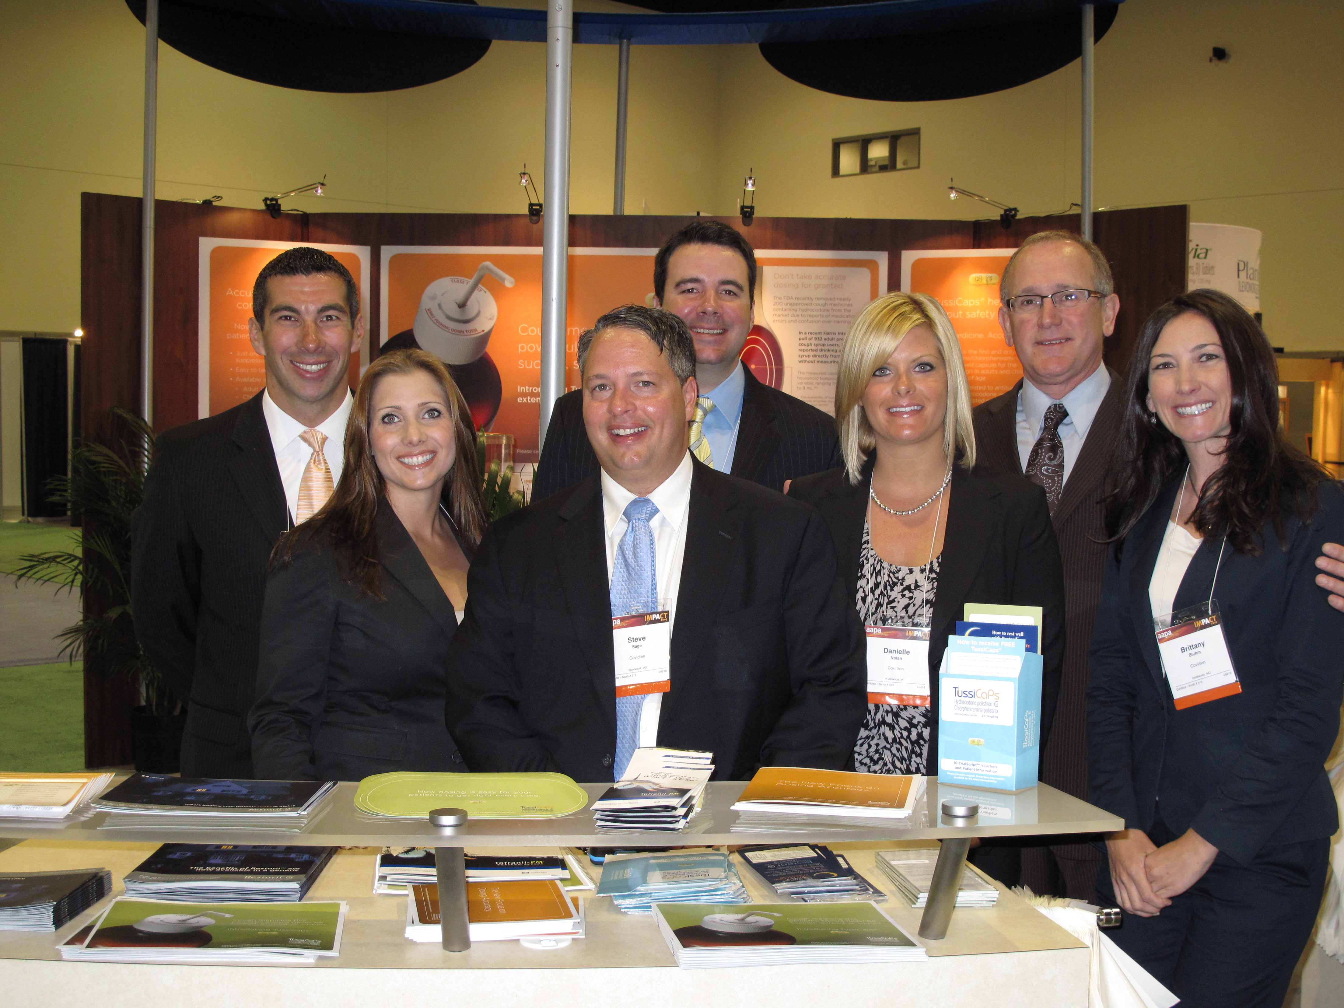
[[[972,406],[1003,395],[1021,378],[1021,363],[999,325],[999,278],[1013,251],[938,249],[900,254],[900,289],[935,297],[957,331]]]

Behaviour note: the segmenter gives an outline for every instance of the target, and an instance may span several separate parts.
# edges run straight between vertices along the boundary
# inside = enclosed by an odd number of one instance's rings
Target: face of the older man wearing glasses
[[[1075,242],[1044,242],[1027,249],[1013,263],[1004,297],[1054,294],[1097,288],[1091,258]],[[1062,399],[1101,367],[1102,340],[1116,331],[1120,298],[1089,298],[1060,310],[1046,298],[1039,312],[999,309],[1008,345],[1017,351],[1023,374],[1052,399]]]

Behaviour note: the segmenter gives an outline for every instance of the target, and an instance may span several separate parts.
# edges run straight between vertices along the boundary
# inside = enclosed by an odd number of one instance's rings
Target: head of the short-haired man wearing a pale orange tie
[[[345,401],[364,317],[349,317],[345,284],[331,273],[270,277],[266,292],[263,324],[247,320],[253,349],[266,359],[266,390],[280,409],[316,427]]]

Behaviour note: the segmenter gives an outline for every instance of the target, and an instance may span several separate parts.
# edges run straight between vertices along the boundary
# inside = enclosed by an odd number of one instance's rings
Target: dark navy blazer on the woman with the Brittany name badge
[[[1344,618],[1316,587],[1321,544],[1344,527],[1344,492],[1322,484],[1322,511],[1289,523],[1288,550],[1266,523],[1263,552],[1230,546],[1214,598],[1242,692],[1177,711],[1153,636],[1148,586],[1180,478],[1126,536],[1106,570],[1091,645],[1090,801],[1149,831],[1196,833],[1241,864],[1267,847],[1332,836],[1339,813],[1324,763],[1340,723]],[[1175,609],[1208,598],[1220,539],[1207,538]]]

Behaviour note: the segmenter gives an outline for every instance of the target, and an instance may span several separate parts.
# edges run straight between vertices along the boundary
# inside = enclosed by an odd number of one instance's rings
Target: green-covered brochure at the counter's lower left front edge
[[[343,910],[323,903],[177,903],[122,896],[85,949],[276,950],[340,953]]]

